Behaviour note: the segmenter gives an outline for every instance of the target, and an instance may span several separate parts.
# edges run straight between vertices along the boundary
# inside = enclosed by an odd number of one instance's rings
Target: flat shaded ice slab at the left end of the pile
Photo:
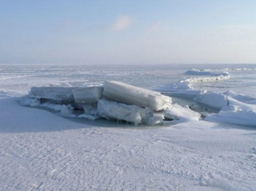
[[[74,101],[73,92],[76,87],[32,87],[31,95],[38,99],[56,101]]]

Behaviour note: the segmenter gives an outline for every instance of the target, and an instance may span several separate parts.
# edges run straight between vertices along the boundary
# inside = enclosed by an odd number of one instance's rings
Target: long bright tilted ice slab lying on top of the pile
[[[104,97],[130,105],[150,107],[155,111],[166,109],[171,104],[171,97],[145,90],[143,88],[124,84],[116,81],[106,81],[104,83]]]

